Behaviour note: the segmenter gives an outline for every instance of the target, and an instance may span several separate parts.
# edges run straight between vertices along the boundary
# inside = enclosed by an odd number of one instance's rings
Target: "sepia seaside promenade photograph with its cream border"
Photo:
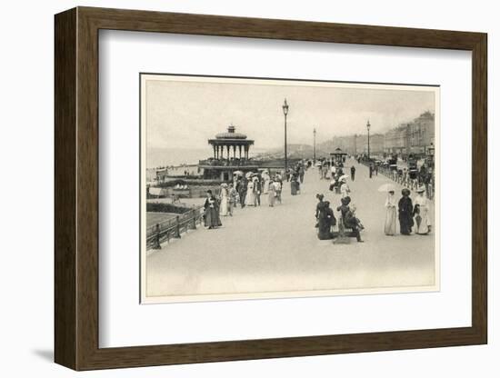
[[[140,74],[141,303],[439,291],[439,95]]]

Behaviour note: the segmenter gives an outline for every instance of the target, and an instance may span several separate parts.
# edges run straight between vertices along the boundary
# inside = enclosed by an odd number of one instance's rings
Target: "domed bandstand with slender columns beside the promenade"
[[[257,171],[258,163],[249,158],[250,146],[254,141],[247,139],[245,134],[236,133],[235,130],[235,126],[231,124],[227,127],[227,132],[216,134],[214,139],[208,139],[214,155],[199,162],[205,179],[228,181],[236,171],[243,173]]]

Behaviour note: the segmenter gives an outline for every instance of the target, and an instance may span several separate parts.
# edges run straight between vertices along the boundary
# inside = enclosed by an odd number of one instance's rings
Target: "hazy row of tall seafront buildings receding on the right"
[[[435,114],[425,112],[413,121],[399,124],[385,134],[370,134],[370,154],[428,154],[434,149]],[[367,154],[367,134],[335,136],[328,144],[340,147],[347,154]]]

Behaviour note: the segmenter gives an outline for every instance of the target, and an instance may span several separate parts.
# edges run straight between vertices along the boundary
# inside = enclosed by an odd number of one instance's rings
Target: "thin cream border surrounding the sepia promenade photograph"
[[[148,77],[151,76],[151,77]],[[159,76],[159,77],[158,77]],[[144,77],[144,79],[143,79]],[[160,79],[161,78],[161,79]],[[145,112],[144,108],[146,105],[146,94],[144,91],[145,82],[143,80],[160,80],[160,81],[168,81],[165,78],[172,78],[175,81],[177,79],[177,83],[179,82],[193,82],[196,80],[204,81],[204,79],[208,79],[205,83],[222,83],[222,84],[235,84],[234,82],[240,85],[280,85],[272,82],[285,82],[290,86],[294,86],[294,83],[297,86],[307,86],[307,84],[311,84],[317,87],[345,87],[346,89],[369,89],[369,90],[401,90],[408,91],[410,88],[412,90],[418,91],[419,89],[425,92],[432,92],[435,94],[435,131],[436,131],[436,140],[435,145],[439,145],[441,143],[440,134],[441,134],[441,110],[440,110],[440,101],[441,101],[441,85],[433,84],[405,84],[405,83],[372,83],[372,82],[355,82],[355,81],[343,81],[343,80],[320,80],[320,79],[304,79],[304,78],[283,78],[283,77],[262,77],[262,76],[234,76],[234,75],[191,75],[191,74],[170,74],[170,73],[151,73],[151,72],[140,72],[139,73],[139,161],[140,161],[140,180],[139,180],[139,193],[140,193],[140,214],[139,214],[139,233],[140,233],[140,245],[139,245],[139,254],[140,254],[140,263],[139,263],[139,302],[141,304],[153,304],[153,303],[193,303],[193,302],[211,302],[211,301],[234,301],[234,300],[245,300],[245,299],[281,299],[281,298],[308,298],[308,297],[319,297],[319,296],[338,296],[338,295],[365,295],[365,294],[380,294],[380,293],[432,293],[439,292],[441,290],[441,277],[440,277],[440,264],[441,264],[441,256],[440,256],[440,232],[441,232],[441,224],[440,224],[440,206],[436,205],[433,219],[435,219],[435,243],[434,243],[434,255],[435,255],[435,284],[420,284],[420,285],[402,285],[402,286],[379,286],[379,287],[366,287],[366,288],[332,288],[332,289],[303,289],[303,290],[281,290],[281,291],[265,291],[265,292],[255,292],[255,293],[193,293],[193,294],[184,294],[184,295],[157,295],[148,297],[145,292],[146,286],[146,273],[145,273],[145,259],[147,251],[145,250],[145,160],[147,154],[146,147],[146,134],[147,134],[147,126],[145,125]],[[193,79],[193,80],[192,80]],[[215,81],[217,80],[217,81]],[[245,80],[252,81],[252,84],[245,83]],[[239,83],[241,81],[241,83]],[[264,83],[255,83],[255,82],[264,82]],[[265,82],[268,82],[267,84]],[[331,85],[331,86],[328,86]],[[348,85],[353,85],[352,87]],[[366,88],[364,88],[366,87]],[[399,87],[399,88],[397,88]],[[425,89],[426,88],[426,89]],[[432,88],[432,89],[429,89]],[[439,167],[441,155],[440,149],[436,149],[435,158],[436,158],[436,166]],[[436,190],[436,199],[437,204],[439,203],[439,198],[441,194],[440,182],[441,182],[441,168],[437,170],[436,174],[436,187],[439,188]]]

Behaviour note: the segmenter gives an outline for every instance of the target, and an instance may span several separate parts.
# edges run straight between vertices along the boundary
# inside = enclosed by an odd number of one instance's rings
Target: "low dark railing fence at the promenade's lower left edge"
[[[196,224],[203,221],[203,206],[197,206],[183,214],[178,214],[175,218],[155,224],[146,229],[146,249],[161,249],[161,244],[169,242],[170,239],[178,239],[187,230],[195,230]]]

